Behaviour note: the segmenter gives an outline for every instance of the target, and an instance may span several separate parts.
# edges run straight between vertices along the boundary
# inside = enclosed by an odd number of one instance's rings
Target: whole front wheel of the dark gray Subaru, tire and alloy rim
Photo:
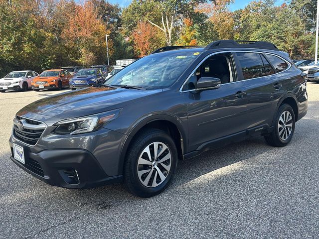
[[[129,147],[124,165],[126,188],[139,197],[152,197],[170,184],[177,166],[177,149],[162,130],[147,129]]]

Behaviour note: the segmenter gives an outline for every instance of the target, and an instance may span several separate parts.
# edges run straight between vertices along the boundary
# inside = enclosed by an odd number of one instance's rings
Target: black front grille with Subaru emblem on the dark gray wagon
[[[23,129],[18,128],[17,124],[19,121],[23,122]],[[31,146],[34,146],[37,143],[46,127],[42,122],[22,117],[16,117],[13,122],[13,136]]]

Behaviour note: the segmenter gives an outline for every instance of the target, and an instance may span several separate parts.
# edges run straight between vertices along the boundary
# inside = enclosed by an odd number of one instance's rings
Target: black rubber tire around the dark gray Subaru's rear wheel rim
[[[288,138],[287,139],[283,139],[281,136],[280,136],[280,133],[279,133],[279,122],[280,122],[280,117],[282,116],[282,114],[284,112],[289,112],[290,115],[291,115],[291,120],[292,120],[292,128],[291,128],[291,133],[289,134]],[[289,121],[290,122],[290,121]],[[282,124],[282,122],[281,122]],[[275,116],[275,119],[273,120],[273,126],[274,126],[274,130],[272,133],[270,133],[269,135],[265,136],[265,140],[266,142],[271,145],[271,146],[275,146],[275,147],[284,147],[286,146],[292,139],[293,135],[294,135],[294,132],[295,132],[295,124],[296,124],[296,119],[295,119],[295,113],[293,111],[293,108],[288,105],[288,104],[282,104],[279,109],[278,109],[278,112]],[[287,127],[287,126],[286,126]],[[283,129],[284,127],[281,127],[280,129]],[[284,129],[286,130],[286,129]],[[288,131],[287,131],[288,132]],[[285,133],[285,132],[284,132]]]

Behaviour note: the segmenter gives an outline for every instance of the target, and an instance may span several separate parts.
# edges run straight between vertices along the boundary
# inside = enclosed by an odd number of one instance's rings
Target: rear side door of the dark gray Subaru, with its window
[[[268,124],[271,126],[277,103],[285,92],[285,79],[279,74],[288,64],[272,54],[236,52],[240,76],[247,92],[248,128]],[[275,68],[270,59],[278,59],[284,65]]]

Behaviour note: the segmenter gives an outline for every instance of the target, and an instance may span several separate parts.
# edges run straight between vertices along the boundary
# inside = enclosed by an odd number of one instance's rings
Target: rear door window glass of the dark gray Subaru
[[[243,71],[244,80],[266,75],[259,53],[237,52],[236,54]]]

